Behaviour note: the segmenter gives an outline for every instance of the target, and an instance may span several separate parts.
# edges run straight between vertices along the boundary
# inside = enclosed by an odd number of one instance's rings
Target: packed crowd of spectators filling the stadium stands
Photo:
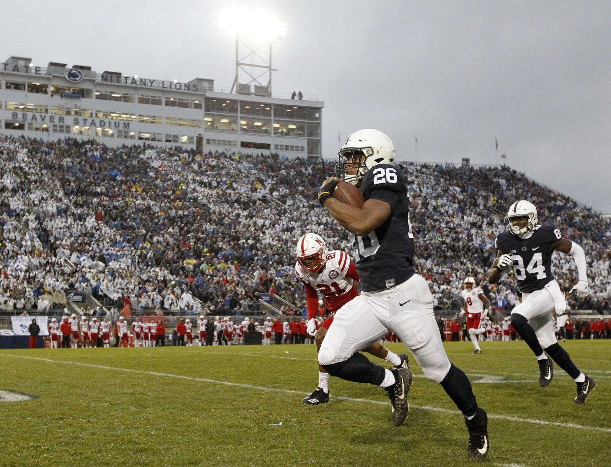
[[[0,136],[0,309],[63,308],[66,292],[117,307],[246,315],[258,293],[305,306],[294,243],[316,232],[352,248],[314,193],[334,164],[242,153],[177,152],[74,140]],[[497,311],[518,300],[513,281],[485,284],[503,213],[527,198],[588,256],[591,296],[571,309],[609,312],[609,219],[508,167],[400,163],[409,182],[415,266],[436,307],[460,306],[475,276]],[[276,200],[276,201],[274,201]],[[570,258],[554,257],[564,290]]]

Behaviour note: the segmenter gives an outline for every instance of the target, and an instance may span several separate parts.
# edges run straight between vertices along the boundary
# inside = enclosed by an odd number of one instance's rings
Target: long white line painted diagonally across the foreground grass
[[[109,366],[103,366],[103,365],[95,365],[92,363],[54,360],[51,358],[31,357],[31,356],[25,356],[25,355],[12,355],[10,353],[0,354],[0,356],[25,358],[25,359],[38,360],[38,361],[49,362],[49,363],[63,363],[63,364],[68,364],[68,365],[78,365],[78,366],[84,366],[84,367],[99,368],[103,370],[115,370],[115,371],[126,372],[126,373],[139,373],[141,375],[152,375],[152,376],[158,376],[158,377],[164,377],[164,378],[178,378],[181,380],[200,381],[202,383],[224,384],[225,386],[237,386],[240,388],[256,389],[258,391],[284,392],[285,394],[299,394],[299,395],[305,394],[307,395],[306,393],[302,391],[293,391],[291,389],[266,388],[265,386],[254,386],[253,384],[231,383],[230,381],[210,380],[208,378],[194,378],[194,377],[183,376],[183,375],[173,375],[172,373],[159,373],[159,372],[144,371],[144,370],[131,370],[128,368],[109,367]],[[365,403],[373,403],[373,404],[379,404],[379,405],[388,405],[387,401],[382,401],[382,400],[356,399],[354,397],[341,397],[341,396],[332,396],[332,397],[334,399],[349,400],[351,402],[365,402]],[[434,412],[460,414],[458,410],[450,410],[450,409],[439,408],[439,407],[430,407],[426,405],[410,404],[410,406],[412,408],[417,408],[419,410],[430,410]],[[505,420],[505,421],[510,421],[510,422],[529,423],[529,424],[535,424],[535,425],[552,425],[555,427],[562,427],[562,428],[571,428],[571,429],[577,429],[577,430],[591,430],[591,431],[596,431],[596,432],[611,433],[611,428],[588,427],[586,425],[577,425],[573,423],[547,422],[544,420],[524,419],[524,418],[519,418],[519,417],[511,417],[507,415],[495,415],[491,413],[488,413],[488,418],[493,418],[497,420]],[[513,464],[508,464],[508,465],[513,466]]]

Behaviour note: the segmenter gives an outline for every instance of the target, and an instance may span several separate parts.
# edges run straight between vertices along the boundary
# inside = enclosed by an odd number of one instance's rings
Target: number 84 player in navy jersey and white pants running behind
[[[501,232],[496,238],[495,245],[499,251],[488,270],[488,282],[496,284],[503,271],[513,267],[518,289],[522,293],[522,303],[511,311],[511,324],[536,355],[541,373],[540,386],[551,383],[554,377],[553,360],[577,383],[574,402],[582,404],[596,382],[577,369],[556,339],[552,311],[563,314],[566,300],[558,282],[552,277],[551,264],[554,251],[573,256],[579,281],[571,292],[576,290],[580,295],[587,294],[589,287],[584,249],[563,238],[560,230],[554,226],[538,224],[536,207],[529,201],[514,202],[506,218],[509,231]]]

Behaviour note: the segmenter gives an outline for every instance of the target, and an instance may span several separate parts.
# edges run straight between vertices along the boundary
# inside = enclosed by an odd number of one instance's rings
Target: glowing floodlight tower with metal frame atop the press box
[[[272,43],[287,35],[287,23],[262,10],[229,7],[219,16],[222,31],[235,34],[235,79],[231,92],[271,96]]]

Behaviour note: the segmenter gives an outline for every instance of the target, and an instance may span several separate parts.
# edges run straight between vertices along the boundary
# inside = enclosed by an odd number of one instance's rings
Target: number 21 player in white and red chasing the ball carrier
[[[307,332],[314,336],[316,351],[320,350],[327,329],[333,322],[335,312],[359,295],[359,273],[348,255],[340,250],[327,252],[324,240],[317,234],[305,234],[299,238],[295,247],[295,275],[305,285],[307,297]],[[316,331],[316,313],[318,312],[318,293],[325,299],[327,311],[331,314]],[[408,367],[408,356],[396,355],[374,342],[366,350],[371,355],[385,359],[395,367]],[[302,402],[318,405],[329,402],[329,373],[318,364],[318,388],[305,397]]]

